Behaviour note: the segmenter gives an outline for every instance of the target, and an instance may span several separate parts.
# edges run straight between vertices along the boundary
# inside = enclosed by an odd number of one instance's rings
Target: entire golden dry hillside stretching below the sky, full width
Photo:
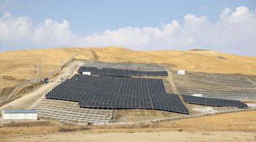
[[[0,89],[6,94],[15,84],[34,77],[34,65],[41,61],[42,76],[58,67],[61,61],[98,59],[109,62],[171,64],[174,69],[206,73],[256,75],[256,57],[236,56],[208,50],[133,51],[127,48],[52,48],[0,52]],[[93,55],[94,54],[94,55]]]

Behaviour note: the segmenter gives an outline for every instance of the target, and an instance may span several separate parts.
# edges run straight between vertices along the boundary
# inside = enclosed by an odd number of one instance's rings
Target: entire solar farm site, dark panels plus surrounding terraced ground
[[[85,61],[77,70],[77,74],[46,93],[45,99],[34,109],[38,111],[40,117],[63,121],[114,123],[127,119],[138,121],[142,118],[150,120],[175,116],[186,117],[188,114],[195,113],[195,108],[206,105],[219,111],[222,108],[246,109],[249,106],[239,99],[250,99],[255,96],[253,84],[244,86],[247,88],[246,95],[232,94],[232,91],[230,94],[228,91],[212,93],[210,87],[212,82],[229,83],[230,86],[241,85],[236,83],[236,78],[222,82],[219,75],[217,77],[220,78],[220,82],[212,78],[210,82],[199,77],[212,77],[211,74],[178,75],[173,73],[172,69],[170,70],[172,72],[167,72],[168,68],[155,64]],[[91,75],[85,75],[83,72],[90,72]],[[172,90],[170,75],[173,76],[179,94],[175,94]],[[199,79],[195,78],[196,75]],[[226,78],[229,76],[223,76],[223,79]],[[253,77],[250,79],[253,80]],[[190,86],[199,86],[203,81],[209,85],[205,86],[204,92],[193,92],[193,87]],[[182,86],[186,83],[190,83],[190,86]],[[242,92],[245,91],[241,89],[240,93]],[[203,97],[192,96],[194,93],[202,93]],[[251,97],[248,97],[250,94]],[[138,111],[140,115],[136,114]]]

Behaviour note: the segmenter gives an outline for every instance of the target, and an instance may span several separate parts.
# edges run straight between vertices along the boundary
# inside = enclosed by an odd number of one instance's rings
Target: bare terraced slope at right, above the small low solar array
[[[255,75],[187,73],[173,74],[179,94],[203,94],[205,97],[255,100]]]

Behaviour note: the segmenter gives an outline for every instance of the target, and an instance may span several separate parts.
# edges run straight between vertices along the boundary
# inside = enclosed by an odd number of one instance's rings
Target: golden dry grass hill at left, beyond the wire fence
[[[0,53],[0,89],[34,78],[34,65],[41,61],[42,76],[70,56],[62,49],[19,50]],[[7,77],[4,77],[7,76]]]

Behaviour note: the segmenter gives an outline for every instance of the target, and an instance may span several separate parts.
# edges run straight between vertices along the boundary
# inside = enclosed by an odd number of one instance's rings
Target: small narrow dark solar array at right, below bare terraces
[[[247,108],[248,106],[240,101],[236,100],[226,100],[226,99],[217,99],[211,97],[198,97],[192,95],[182,95],[185,102],[193,104],[203,104],[203,105],[212,105],[212,106],[233,106],[237,108]]]

